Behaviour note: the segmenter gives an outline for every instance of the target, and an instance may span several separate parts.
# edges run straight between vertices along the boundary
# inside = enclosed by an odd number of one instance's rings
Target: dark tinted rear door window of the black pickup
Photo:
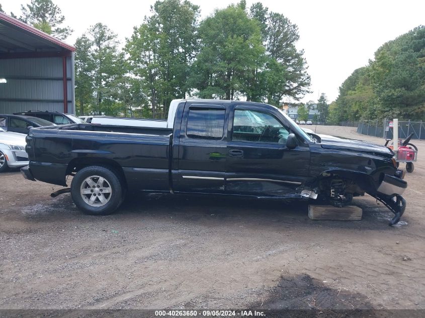
[[[191,107],[186,135],[195,139],[223,138],[225,110],[220,108]]]

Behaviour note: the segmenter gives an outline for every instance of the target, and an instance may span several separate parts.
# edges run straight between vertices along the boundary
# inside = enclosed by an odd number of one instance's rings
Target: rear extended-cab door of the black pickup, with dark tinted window
[[[178,132],[177,192],[224,193],[228,109],[222,101],[187,101]],[[175,132],[177,130],[175,129]],[[227,129],[226,129],[227,131]]]

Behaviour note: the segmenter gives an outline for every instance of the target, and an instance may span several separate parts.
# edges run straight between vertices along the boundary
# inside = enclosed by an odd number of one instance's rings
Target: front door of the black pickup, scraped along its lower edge
[[[283,196],[308,176],[310,150],[286,147],[290,125],[278,111],[236,105],[230,112],[225,193]]]

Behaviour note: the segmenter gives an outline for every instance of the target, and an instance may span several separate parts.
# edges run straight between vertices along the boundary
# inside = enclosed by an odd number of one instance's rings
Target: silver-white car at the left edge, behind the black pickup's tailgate
[[[26,136],[0,128],[0,172],[29,165],[25,152]]]

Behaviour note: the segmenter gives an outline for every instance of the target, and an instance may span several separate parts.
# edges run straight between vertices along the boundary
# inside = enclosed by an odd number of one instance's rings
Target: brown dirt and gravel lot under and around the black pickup
[[[355,199],[360,222],[310,221],[304,203],[168,194],[93,217],[69,194],[52,199],[60,187],[3,173],[0,308],[425,308],[425,142],[414,143],[394,227],[368,196]]]

